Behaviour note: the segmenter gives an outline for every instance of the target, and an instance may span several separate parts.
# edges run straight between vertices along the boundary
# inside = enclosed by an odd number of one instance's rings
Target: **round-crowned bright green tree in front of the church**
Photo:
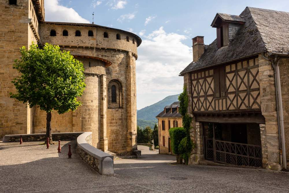
[[[51,112],[62,114],[81,105],[77,97],[85,88],[83,64],[58,45],[48,43],[43,49],[34,43],[28,50],[23,46],[20,52],[22,57],[15,60],[13,68],[21,76],[12,81],[17,93],[10,93],[10,97],[46,111],[46,137],[53,144]]]

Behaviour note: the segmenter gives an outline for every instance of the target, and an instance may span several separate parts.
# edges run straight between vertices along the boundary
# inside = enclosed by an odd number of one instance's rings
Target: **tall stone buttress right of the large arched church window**
[[[136,137],[136,62],[127,54],[127,151],[137,150]]]

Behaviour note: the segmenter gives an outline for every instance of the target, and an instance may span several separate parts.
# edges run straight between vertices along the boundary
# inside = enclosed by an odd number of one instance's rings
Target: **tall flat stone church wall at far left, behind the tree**
[[[0,1],[0,138],[6,134],[30,133],[30,109],[9,95],[16,91],[11,81],[19,74],[12,65],[20,58],[19,48],[27,47],[33,39],[28,32],[28,7],[27,0],[18,0],[17,5]]]

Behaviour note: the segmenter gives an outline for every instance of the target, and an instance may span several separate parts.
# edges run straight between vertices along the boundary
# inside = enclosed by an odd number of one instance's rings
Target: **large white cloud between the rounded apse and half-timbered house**
[[[184,79],[178,75],[192,62],[192,48],[182,43],[186,39],[163,27],[144,36],[136,60],[138,109],[181,93]]]

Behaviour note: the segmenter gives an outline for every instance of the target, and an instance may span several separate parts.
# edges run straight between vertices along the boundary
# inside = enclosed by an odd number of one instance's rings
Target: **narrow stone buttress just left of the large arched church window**
[[[106,135],[106,75],[100,77],[100,147],[108,151],[108,138]]]

